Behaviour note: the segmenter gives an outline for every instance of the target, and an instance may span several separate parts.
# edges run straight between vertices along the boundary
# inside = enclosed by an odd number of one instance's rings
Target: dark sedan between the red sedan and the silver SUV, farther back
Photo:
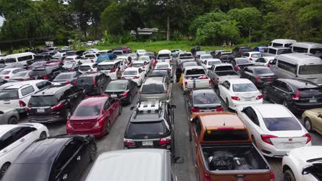
[[[132,80],[113,80],[109,82],[105,89],[105,94],[115,99],[120,99],[122,103],[131,104],[133,97],[138,93],[138,85]]]

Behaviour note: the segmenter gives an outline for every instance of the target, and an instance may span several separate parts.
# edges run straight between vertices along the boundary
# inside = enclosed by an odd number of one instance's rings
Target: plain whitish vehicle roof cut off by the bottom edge
[[[89,171],[87,181],[140,180],[164,181],[171,167],[167,149],[121,149],[100,154]],[[138,167],[139,166],[139,167]],[[168,169],[167,169],[168,168]],[[124,172],[125,171],[125,172]],[[131,179],[129,179],[131,178]]]

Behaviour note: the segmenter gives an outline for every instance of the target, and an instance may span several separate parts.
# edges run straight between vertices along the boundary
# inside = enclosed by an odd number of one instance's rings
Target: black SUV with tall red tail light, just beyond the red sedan
[[[111,77],[101,72],[87,72],[79,76],[74,85],[83,88],[86,95],[102,95]]]

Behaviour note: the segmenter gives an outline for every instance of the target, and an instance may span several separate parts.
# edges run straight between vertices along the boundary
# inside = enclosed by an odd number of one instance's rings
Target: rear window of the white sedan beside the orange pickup
[[[294,117],[263,118],[266,128],[270,131],[302,130],[299,121]]]

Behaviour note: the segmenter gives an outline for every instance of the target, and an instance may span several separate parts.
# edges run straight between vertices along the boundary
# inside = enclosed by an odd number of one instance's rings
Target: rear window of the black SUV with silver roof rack
[[[127,136],[140,136],[140,135],[162,135],[167,133],[164,121],[153,122],[129,122],[127,126]]]

